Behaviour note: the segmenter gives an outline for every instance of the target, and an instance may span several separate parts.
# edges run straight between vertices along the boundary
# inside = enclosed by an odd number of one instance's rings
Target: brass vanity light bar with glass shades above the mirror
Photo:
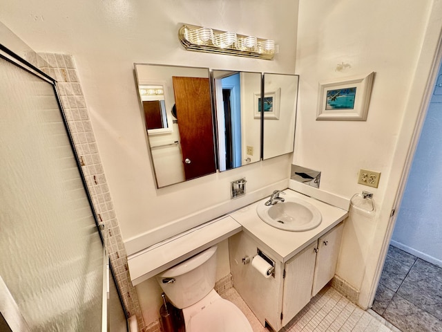
[[[191,26],[186,24],[178,31],[181,44],[187,50],[200,52],[222,53],[255,57],[257,59],[273,59],[279,52],[279,46],[271,39],[254,36],[238,35],[212,28]]]

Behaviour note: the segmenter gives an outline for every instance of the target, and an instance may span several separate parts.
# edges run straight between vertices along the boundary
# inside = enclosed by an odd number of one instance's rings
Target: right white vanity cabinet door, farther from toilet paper
[[[318,255],[311,297],[314,297],[334,277],[343,228],[343,223],[340,223],[318,239]]]

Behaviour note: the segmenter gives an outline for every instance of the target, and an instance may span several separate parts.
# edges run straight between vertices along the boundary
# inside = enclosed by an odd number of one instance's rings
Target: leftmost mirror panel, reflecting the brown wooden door
[[[215,173],[209,69],[135,64],[135,75],[157,187]],[[144,100],[142,90],[147,90],[146,95],[149,90],[146,86],[152,90],[151,97],[155,92],[156,100]],[[155,105],[145,106],[146,101]],[[165,113],[166,128],[150,128],[146,109],[151,108],[162,115]],[[175,121],[172,112],[176,115]],[[164,121],[162,123],[164,125]]]

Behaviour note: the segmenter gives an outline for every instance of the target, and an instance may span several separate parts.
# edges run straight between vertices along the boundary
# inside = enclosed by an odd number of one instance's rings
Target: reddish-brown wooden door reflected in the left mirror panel
[[[216,172],[208,78],[172,77],[186,180]]]

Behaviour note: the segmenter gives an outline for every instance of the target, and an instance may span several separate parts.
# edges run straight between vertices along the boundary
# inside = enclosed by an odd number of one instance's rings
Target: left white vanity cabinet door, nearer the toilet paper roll
[[[311,299],[316,241],[285,264],[282,295],[282,326],[285,326]]]

